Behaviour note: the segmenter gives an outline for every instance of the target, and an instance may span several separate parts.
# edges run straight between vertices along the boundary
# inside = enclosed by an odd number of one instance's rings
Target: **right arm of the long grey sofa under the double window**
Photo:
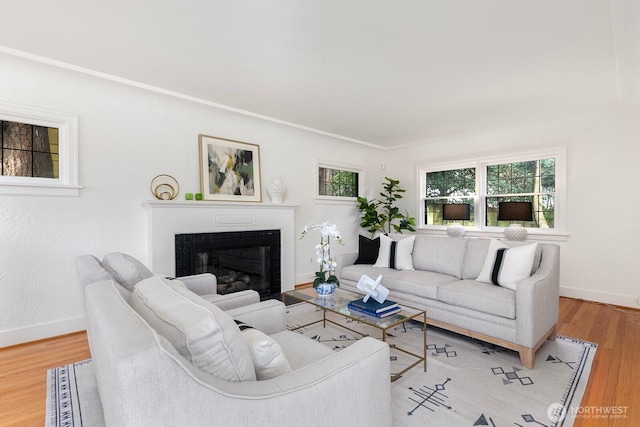
[[[545,244],[538,270],[516,285],[517,344],[535,346],[557,323],[560,247]]]

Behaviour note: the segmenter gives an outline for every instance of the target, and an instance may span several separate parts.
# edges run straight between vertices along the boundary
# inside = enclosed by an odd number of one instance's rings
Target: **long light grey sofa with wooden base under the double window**
[[[408,260],[413,269],[355,264],[358,253],[343,254],[336,257],[340,286],[357,291],[363,274],[374,279],[382,274],[382,284],[390,290],[389,299],[426,309],[431,325],[515,350],[527,368],[533,368],[535,351],[544,341],[555,339],[560,264],[557,245],[537,245],[531,275],[515,283],[514,290],[476,280],[487,261],[491,239],[424,234],[390,237],[398,242],[415,239]],[[363,239],[361,236],[361,252]],[[500,243],[514,248],[531,244]]]

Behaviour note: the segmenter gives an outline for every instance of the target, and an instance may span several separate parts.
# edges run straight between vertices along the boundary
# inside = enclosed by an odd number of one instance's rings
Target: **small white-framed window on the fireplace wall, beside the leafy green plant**
[[[353,201],[360,195],[363,172],[355,166],[318,163],[317,179],[320,200]]]

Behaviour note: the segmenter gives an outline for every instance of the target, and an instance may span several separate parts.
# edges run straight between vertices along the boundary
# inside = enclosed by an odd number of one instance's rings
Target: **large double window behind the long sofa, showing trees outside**
[[[425,229],[440,229],[452,222],[468,230],[499,232],[510,221],[498,220],[502,202],[530,202],[531,221],[522,221],[534,234],[565,232],[564,148],[420,168],[420,209]],[[468,204],[470,219],[443,220],[443,204]]]

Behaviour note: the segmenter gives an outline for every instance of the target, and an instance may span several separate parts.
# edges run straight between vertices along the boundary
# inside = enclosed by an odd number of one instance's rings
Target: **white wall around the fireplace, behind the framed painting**
[[[279,172],[285,202],[299,205],[296,230],[333,221],[353,236],[336,252],[357,249],[355,204],[314,203],[315,162],[379,169],[375,149],[5,55],[0,100],[79,116],[84,186],[79,197],[0,195],[0,347],[83,329],[77,255],[123,251],[147,261],[141,202],[152,198],[149,184],[161,173],[183,192],[199,191],[199,133],[259,144],[263,202]],[[316,267],[315,237],[296,238],[298,282]]]

